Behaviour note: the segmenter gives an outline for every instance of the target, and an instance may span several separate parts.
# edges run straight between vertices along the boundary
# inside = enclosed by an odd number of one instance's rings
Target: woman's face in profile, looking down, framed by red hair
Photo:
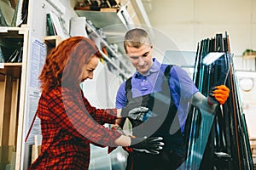
[[[91,59],[88,61],[87,65],[84,65],[83,72],[82,72],[82,81],[86,80],[87,78],[92,79],[93,78],[93,71],[96,69],[96,66],[99,63],[99,58],[96,56],[91,57]]]

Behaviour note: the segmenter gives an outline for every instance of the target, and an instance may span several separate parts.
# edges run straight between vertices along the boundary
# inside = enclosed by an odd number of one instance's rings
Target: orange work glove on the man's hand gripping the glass
[[[210,90],[208,104],[214,105],[219,103],[220,105],[224,105],[229,95],[230,88],[227,88],[225,85],[215,86]]]

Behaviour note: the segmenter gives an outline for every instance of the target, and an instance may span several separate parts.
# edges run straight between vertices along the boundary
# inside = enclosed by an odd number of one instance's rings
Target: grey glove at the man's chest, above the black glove
[[[148,108],[147,107],[143,107],[143,106],[138,106],[136,108],[133,108],[130,110],[130,108],[123,108],[122,112],[121,112],[121,116],[122,117],[129,117],[133,120],[137,120],[137,121],[141,121],[143,122],[143,117],[145,115],[145,113],[148,112]]]

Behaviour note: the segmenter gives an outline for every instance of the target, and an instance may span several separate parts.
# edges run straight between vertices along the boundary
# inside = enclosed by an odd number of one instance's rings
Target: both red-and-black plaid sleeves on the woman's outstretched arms
[[[49,110],[55,113],[51,118],[76,137],[84,137],[96,144],[116,145],[114,140],[119,138],[120,133],[98,123],[112,122],[114,116],[108,115],[111,110],[96,110],[83,98],[80,93],[72,94],[65,89],[49,94]]]

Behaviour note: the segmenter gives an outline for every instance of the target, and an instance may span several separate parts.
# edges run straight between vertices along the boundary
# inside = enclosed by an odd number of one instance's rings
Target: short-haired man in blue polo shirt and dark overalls
[[[224,104],[229,88],[212,88],[211,95],[202,95],[186,71],[177,65],[163,65],[153,59],[153,44],[148,33],[135,28],[125,34],[125,53],[136,72],[123,82],[116,97],[117,108],[148,107],[141,115],[127,116],[137,137],[162,136],[164,149],[160,153],[130,150],[126,169],[176,169],[185,160],[184,127],[189,103],[213,112],[217,103]],[[125,118],[117,120],[123,127]]]

